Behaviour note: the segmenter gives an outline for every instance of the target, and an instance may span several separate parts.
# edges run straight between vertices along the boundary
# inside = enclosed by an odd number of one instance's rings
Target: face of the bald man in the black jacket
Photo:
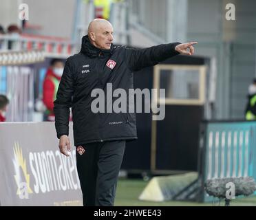
[[[91,33],[92,41],[96,47],[109,50],[113,41],[113,28],[109,23],[100,23],[94,33]]]

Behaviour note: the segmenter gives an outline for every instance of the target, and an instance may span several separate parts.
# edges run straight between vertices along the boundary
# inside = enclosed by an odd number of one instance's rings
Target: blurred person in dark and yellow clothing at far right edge
[[[246,120],[256,120],[256,78],[248,87],[248,101],[246,104],[245,118]]]

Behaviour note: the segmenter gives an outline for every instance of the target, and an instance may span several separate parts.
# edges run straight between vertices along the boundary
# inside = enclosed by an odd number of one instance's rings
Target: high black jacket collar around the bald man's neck
[[[88,35],[83,36],[82,38],[82,46],[81,46],[81,53],[86,54],[89,57],[96,57],[101,54],[101,56],[109,56],[113,53],[114,46],[111,44],[110,50],[103,50],[98,47],[92,45],[89,41]]]

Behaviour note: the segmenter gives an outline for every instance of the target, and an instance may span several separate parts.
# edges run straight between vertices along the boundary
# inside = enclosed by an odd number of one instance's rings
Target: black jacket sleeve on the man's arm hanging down
[[[58,86],[56,100],[54,101],[55,129],[57,137],[69,134],[70,107],[72,107],[73,96],[73,76],[72,67],[67,59],[61,76],[61,82]]]

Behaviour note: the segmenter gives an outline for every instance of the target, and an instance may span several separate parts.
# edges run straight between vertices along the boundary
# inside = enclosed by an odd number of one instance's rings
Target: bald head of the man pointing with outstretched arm
[[[113,27],[105,19],[94,19],[89,23],[88,36],[94,46],[109,50],[113,41]]]

